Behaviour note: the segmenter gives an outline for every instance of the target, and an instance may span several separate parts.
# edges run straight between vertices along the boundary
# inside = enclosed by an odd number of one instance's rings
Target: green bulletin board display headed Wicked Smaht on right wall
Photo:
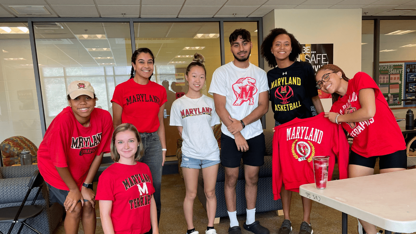
[[[406,95],[402,96],[403,67],[404,63],[400,62],[380,62],[379,64],[379,88],[389,107],[402,107],[402,99],[406,99]]]

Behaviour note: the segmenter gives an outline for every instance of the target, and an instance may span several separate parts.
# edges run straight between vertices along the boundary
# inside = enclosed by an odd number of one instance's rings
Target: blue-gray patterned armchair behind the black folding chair
[[[37,170],[37,165],[0,167],[0,207],[19,206],[27,192],[27,184],[32,174]],[[32,202],[37,188],[34,189],[26,204]],[[58,203],[51,204],[49,201],[49,190],[47,186],[42,187],[42,192],[37,197],[36,205],[44,207],[40,215],[27,219],[27,223],[42,234],[52,234],[61,221],[63,207]],[[12,234],[17,233],[20,224],[15,225]],[[0,224],[0,231],[7,233],[10,223]],[[33,233],[24,226],[22,233]]]

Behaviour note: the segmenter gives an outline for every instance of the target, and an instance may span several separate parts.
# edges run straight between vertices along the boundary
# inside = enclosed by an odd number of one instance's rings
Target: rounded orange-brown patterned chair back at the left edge
[[[19,153],[23,149],[32,154],[32,163],[37,163],[37,147],[26,137],[16,136],[5,139],[0,144],[3,166],[20,164]]]

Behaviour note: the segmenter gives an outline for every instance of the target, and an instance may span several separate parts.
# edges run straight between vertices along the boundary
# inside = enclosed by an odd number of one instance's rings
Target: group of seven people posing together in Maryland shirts
[[[349,177],[373,174],[378,157],[381,173],[406,169],[401,131],[378,86],[366,73],[359,72],[349,80],[332,64],[315,73],[309,63],[297,61],[302,47],[282,28],[271,30],[261,46],[261,55],[273,68],[267,74],[249,62],[253,47],[250,32],[236,29],[229,41],[234,60],[213,73],[208,90],[213,99],[201,93],[206,87],[206,68],[204,57],[197,53],[186,68],[188,92],[171,107],[170,125],[177,126],[183,139],[181,167],[186,187],[183,211],[187,234],[199,233],[193,226],[193,202],[200,169],[207,198],[205,233],[216,234],[215,183],[219,163],[225,168],[228,233],[241,234],[235,192],[241,159],[247,203],[243,227],[255,234],[270,233],[255,220],[258,173],[265,155],[260,118],[267,113],[269,100],[277,128],[294,119],[310,117],[341,124],[354,137]],[[98,98],[88,81],[77,80],[68,86],[69,106],[54,118],[37,154],[51,202],[59,202],[66,210],[67,234],[77,233],[80,221],[84,233],[95,232],[96,200],[100,200],[105,234],[158,234],[161,175],[166,156],[163,110],[167,97],[165,88],[151,80],[154,62],[150,49],[134,51],[131,78],[114,90],[112,117],[108,111],[94,108]],[[318,89],[332,94],[330,112],[322,113]],[[213,134],[214,126],[220,122],[221,149]],[[392,137],[379,139],[381,131],[389,132]],[[94,194],[92,180],[103,154],[108,152],[115,163],[99,177]],[[307,165],[310,161],[299,160],[299,163]],[[298,190],[285,189],[283,183],[280,191],[284,220],[278,233],[289,234],[292,191]],[[302,197],[302,203],[304,216],[299,233],[312,234],[312,200]],[[362,220],[359,224],[362,224],[360,233],[377,233],[374,225]]]

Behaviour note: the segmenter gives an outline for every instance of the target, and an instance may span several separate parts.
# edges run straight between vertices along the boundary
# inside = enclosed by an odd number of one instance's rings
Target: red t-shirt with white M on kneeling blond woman
[[[149,166],[114,163],[98,179],[97,200],[113,201],[111,222],[116,234],[150,230],[150,201],[155,192]]]

